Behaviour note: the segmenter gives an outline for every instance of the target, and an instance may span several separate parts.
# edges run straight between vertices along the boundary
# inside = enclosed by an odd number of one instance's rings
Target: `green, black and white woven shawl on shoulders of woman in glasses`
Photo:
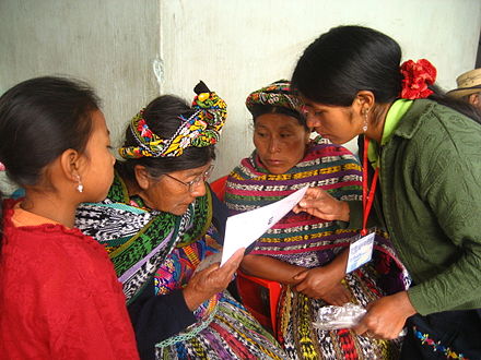
[[[175,247],[207,232],[212,220],[209,203],[208,192],[183,216],[148,209],[140,196],[129,196],[116,175],[104,202],[79,207],[75,226],[105,245],[130,303]]]

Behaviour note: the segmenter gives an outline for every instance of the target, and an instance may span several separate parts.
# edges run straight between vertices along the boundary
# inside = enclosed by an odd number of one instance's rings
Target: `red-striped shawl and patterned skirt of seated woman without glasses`
[[[343,201],[360,201],[362,171],[356,157],[327,140],[314,140],[304,158],[282,175],[271,175],[256,152],[228,176],[225,201],[232,214],[268,205],[305,187],[319,187]],[[307,213],[288,213],[258,239],[250,254],[265,255],[306,268],[328,264],[347,249],[357,229],[343,229]],[[389,240],[375,236],[372,262],[345,275],[351,302],[366,307],[387,293],[403,290],[408,275]],[[290,359],[396,359],[399,340],[356,336],[350,329],[319,331],[313,326],[327,303],[284,286],[278,304],[278,340]]]

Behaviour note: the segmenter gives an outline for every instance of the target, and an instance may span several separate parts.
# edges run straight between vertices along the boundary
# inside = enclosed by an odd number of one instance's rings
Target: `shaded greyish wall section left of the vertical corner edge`
[[[104,100],[118,140],[159,95],[159,28],[157,0],[0,0],[0,94],[39,75],[83,79]]]

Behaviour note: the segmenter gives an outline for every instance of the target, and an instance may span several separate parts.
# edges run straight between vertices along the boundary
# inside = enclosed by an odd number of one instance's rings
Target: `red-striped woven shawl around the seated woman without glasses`
[[[269,173],[254,152],[231,172],[225,202],[231,214],[243,213],[275,202],[305,185],[327,190],[338,200],[361,200],[361,166],[347,148],[321,137],[309,144],[297,165],[281,175]],[[337,221],[290,212],[257,240],[250,254],[269,255],[304,267],[319,266],[335,256],[333,248],[325,249],[324,243],[345,239],[342,231],[335,233],[338,229]],[[325,251],[319,251],[321,249]]]

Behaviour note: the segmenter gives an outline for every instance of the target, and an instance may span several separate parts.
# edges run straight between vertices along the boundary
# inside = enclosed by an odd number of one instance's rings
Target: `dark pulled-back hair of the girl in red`
[[[98,108],[93,89],[78,80],[35,77],[7,91],[0,97],[0,161],[9,179],[22,188],[38,184],[45,166],[66,149],[83,153]]]

